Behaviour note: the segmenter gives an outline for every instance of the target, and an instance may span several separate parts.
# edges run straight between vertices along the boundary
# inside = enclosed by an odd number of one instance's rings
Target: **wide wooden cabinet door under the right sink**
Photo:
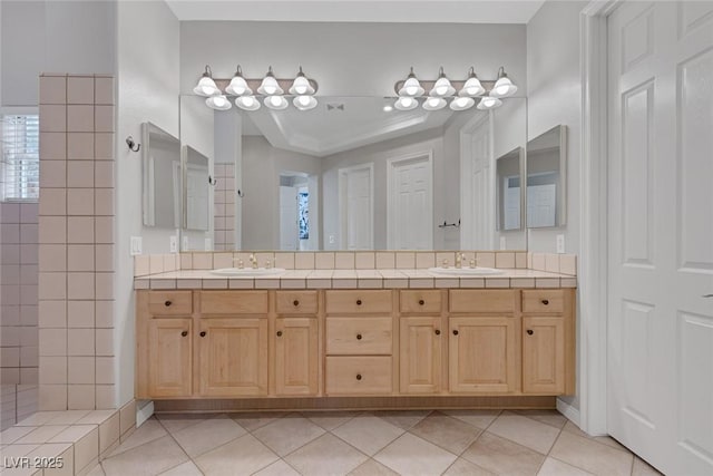
[[[516,343],[515,318],[450,318],[450,391],[514,391],[518,358]]]

